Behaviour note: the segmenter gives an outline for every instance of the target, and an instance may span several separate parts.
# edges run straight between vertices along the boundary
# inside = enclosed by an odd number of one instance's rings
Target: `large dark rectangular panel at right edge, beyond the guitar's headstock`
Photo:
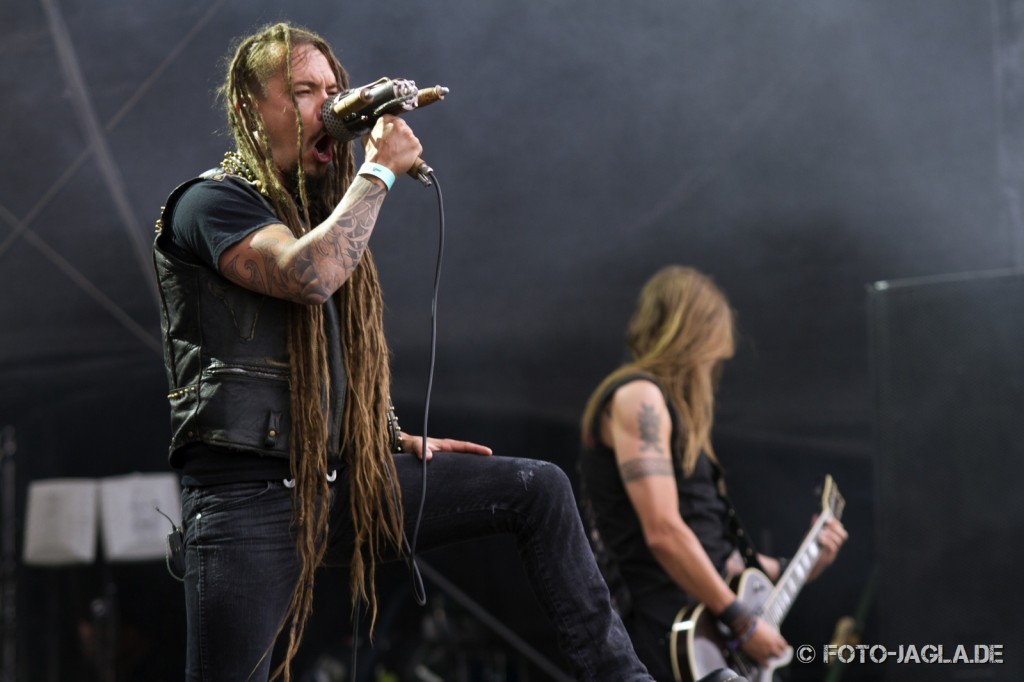
[[[868,289],[877,643],[1002,645],[1002,664],[877,666],[884,680],[1020,680],[1024,271]]]

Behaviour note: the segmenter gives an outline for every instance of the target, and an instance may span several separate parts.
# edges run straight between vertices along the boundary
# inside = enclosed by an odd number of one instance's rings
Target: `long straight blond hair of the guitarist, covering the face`
[[[711,278],[683,265],[669,265],[643,286],[626,333],[631,359],[609,374],[591,394],[581,424],[592,444],[601,397],[635,373],[654,377],[679,418],[676,450],[685,475],[693,473],[701,450],[715,460],[711,429],[715,388],[722,363],[731,357],[734,316]]]

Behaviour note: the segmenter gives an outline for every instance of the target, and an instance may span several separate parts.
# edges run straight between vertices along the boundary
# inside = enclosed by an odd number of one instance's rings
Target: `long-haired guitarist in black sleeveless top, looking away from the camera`
[[[648,671],[673,680],[669,632],[702,603],[730,645],[763,665],[787,644],[737,601],[727,579],[779,559],[758,554],[725,493],[711,443],[717,378],[733,354],[733,314],[707,275],[668,266],[643,287],[627,330],[631,358],[591,395],[582,420],[581,507],[616,606]],[[847,539],[829,519],[818,576]]]

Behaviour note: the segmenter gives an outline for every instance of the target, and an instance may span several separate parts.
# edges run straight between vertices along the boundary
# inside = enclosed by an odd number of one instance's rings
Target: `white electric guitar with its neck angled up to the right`
[[[830,475],[825,476],[821,489],[821,513],[800,544],[778,582],[772,582],[757,568],[748,568],[733,581],[733,589],[740,603],[774,628],[782,624],[790,612],[820,552],[818,531],[829,518],[843,515],[846,501]],[[729,668],[751,682],[771,682],[772,672],[793,660],[793,648],[766,666],[756,662],[738,649],[729,648],[734,635],[718,622],[703,604],[685,606],[676,615],[669,633],[672,672],[676,682],[694,682],[720,669]]]

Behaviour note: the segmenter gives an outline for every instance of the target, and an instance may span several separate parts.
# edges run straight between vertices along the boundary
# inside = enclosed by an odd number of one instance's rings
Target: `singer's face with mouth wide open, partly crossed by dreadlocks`
[[[311,177],[327,173],[335,154],[335,144],[324,129],[321,111],[324,101],[338,93],[338,81],[331,63],[323,52],[312,45],[297,45],[292,51],[292,91],[284,72],[266,83],[266,96],[257,98],[256,110],[263,116],[267,141],[273,163],[280,171],[295,171],[301,161],[302,168]],[[302,117],[302,144],[296,146],[295,106],[292,94]]]

